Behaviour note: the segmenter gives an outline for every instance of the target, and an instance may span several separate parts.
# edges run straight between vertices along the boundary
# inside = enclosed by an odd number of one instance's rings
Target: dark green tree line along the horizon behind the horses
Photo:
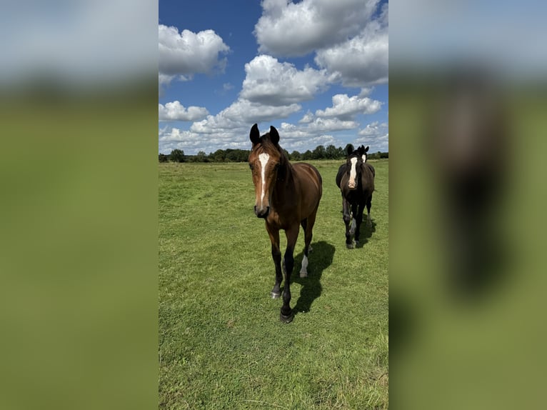
[[[308,161],[310,159],[345,159],[348,147],[353,150],[353,145],[347,144],[343,149],[341,146],[323,145],[316,146],[313,151],[306,152],[292,151],[289,153],[286,149],[286,156],[290,161]],[[196,155],[185,155],[181,149],[174,149],[171,154],[159,154],[160,162],[246,162],[249,159],[249,149],[217,149],[209,155],[204,151],[199,151]],[[388,152],[369,153],[368,159],[388,158]]]

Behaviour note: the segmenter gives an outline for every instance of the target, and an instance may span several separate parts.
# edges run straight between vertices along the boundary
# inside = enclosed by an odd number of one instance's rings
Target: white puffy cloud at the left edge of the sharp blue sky
[[[222,38],[213,30],[194,33],[159,24],[159,72],[166,76],[192,76],[224,71],[230,51]]]

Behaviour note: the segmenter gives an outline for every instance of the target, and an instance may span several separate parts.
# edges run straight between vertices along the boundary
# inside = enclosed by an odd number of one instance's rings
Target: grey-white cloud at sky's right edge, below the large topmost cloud
[[[388,82],[388,5],[352,39],[317,51],[318,66],[336,75],[344,86]]]

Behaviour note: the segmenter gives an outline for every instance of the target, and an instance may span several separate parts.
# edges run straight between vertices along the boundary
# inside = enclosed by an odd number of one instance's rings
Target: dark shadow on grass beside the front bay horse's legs
[[[307,313],[311,309],[311,304],[319,296],[321,296],[321,275],[323,271],[331,266],[334,251],[334,246],[325,241],[319,241],[311,244],[313,251],[309,254],[308,276],[301,278],[299,275],[300,266],[303,258],[303,251],[296,256],[291,283],[296,282],[301,284],[300,297],[293,306],[294,314]],[[296,269],[298,267],[298,269]]]

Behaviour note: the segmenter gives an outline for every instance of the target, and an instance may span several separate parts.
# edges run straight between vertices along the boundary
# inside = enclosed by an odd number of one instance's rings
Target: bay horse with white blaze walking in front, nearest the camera
[[[269,133],[260,136],[259,126],[254,124],[249,137],[253,143],[249,154],[249,167],[254,183],[254,213],[266,221],[266,231],[271,241],[271,256],[276,266],[276,283],[271,290],[274,299],[281,296],[283,280],[279,230],[284,229],[287,237],[287,248],[283,257],[285,286],[280,319],[288,323],[293,319],[290,282],[294,265],[294,246],[302,226],[305,236],[300,276],[308,276],[308,251],[311,250],[311,231],[323,194],[322,179],[317,169],[310,164],[291,164],[288,161],[278,144],[279,134],[273,126],[270,127]]]

